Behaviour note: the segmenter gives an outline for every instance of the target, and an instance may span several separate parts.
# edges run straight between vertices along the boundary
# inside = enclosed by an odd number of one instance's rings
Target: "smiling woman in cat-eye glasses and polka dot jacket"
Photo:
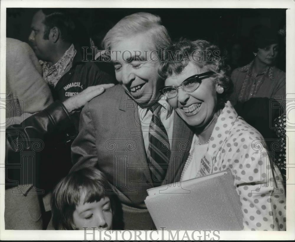
[[[159,74],[165,86],[160,91],[195,133],[181,180],[230,169],[244,230],[286,230],[281,173],[270,163],[263,137],[228,101],[232,82],[218,47],[205,40],[181,40],[163,57]]]

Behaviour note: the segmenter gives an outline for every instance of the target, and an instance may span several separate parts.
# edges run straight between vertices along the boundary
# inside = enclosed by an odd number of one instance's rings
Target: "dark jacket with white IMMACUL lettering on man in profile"
[[[109,64],[87,61],[77,48],[72,67],[52,89],[53,99],[63,102],[89,86],[116,83],[112,73],[114,71]],[[80,112],[76,112],[71,115],[71,121],[57,125],[53,132],[45,134],[39,169],[42,174],[40,188],[45,191],[51,190],[72,167],[71,144],[78,134],[79,119]]]

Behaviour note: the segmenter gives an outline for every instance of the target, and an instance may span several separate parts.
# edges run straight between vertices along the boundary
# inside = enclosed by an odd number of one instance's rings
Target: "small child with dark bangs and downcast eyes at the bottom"
[[[56,230],[112,229],[114,191],[95,168],[68,174],[53,191],[52,222]]]

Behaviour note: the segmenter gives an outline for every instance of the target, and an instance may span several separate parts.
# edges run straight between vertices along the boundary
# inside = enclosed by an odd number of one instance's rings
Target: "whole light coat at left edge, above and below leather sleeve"
[[[7,126],[21,123],[53,102],[34,51],[11,38],[6,38],[6,94],[10,99],[6,101]],[[5,229],[42,229],[38,195],[30,184],[5,190],[4,220]]]

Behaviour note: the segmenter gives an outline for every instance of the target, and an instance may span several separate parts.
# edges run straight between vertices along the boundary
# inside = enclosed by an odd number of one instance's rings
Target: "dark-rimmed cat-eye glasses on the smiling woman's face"
[[[186,78],[181,85],[178,87],[175,86],[166,86],[160,89],[159,91],[165,95],[167,98],[173,98],[178,95],[178,89],[182,88],[186,92],[194,92],[201,85],[201,80],[208,78],[215,74],[215,72],[204,72],[201,74],[196,74],[191,77]]]

